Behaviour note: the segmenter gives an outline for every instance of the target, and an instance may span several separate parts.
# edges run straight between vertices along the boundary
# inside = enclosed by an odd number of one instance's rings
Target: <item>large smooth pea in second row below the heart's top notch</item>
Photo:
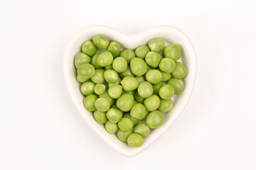
[[[148,70],[148,66],[146,62],[143,59],[138,57],[135,57],[132,59],[130,67],[131,67],[132,73],[137,76],[142,76]]]

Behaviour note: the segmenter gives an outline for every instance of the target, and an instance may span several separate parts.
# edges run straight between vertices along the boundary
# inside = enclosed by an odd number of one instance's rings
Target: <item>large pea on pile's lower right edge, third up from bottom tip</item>
[[[151,112],[146,116],[146,125],[148,125],[151,129],[158,128],[163,123],[164,116],[160,111]]]

